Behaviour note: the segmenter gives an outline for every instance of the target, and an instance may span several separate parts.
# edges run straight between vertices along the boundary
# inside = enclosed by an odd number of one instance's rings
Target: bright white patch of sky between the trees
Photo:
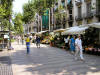
[[[15,0],[13,2],[13,12],[14,13],[22,13],[23,10],[22,10],[22,7],[23,7],[23,4],[24,3],[27,3],[28,0]]]

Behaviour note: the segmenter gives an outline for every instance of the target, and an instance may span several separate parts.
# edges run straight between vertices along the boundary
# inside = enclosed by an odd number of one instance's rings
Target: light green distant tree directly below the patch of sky
[[[14,19],[14,29],[17,34],[23,33],[23,21],[22,21],[22,14],[18,13],[15,15]]]

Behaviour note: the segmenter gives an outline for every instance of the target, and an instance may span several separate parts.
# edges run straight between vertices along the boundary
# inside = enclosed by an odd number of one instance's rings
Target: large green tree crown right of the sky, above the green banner
[[[23,6],[23,21],[30,23],[35,13],[42,15],[44,11],[53,6],[57,0],[31,0]]]

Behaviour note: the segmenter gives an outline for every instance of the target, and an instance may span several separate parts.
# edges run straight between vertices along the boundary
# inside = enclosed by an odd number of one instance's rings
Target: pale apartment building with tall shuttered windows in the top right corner
[[[100,22],[100,0],[74,0],[74,25]]]

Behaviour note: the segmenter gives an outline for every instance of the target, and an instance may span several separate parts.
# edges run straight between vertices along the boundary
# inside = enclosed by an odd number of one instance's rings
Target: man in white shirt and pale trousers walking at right
[[[81,60],[84,60],[83,58],[83,49],[82,49],[82,40],[81,40],[81,36],[78,35],[78,38],[75,40],[75,59],[77,59],[77,55],[78,53],[80,53],[80,58]]]

